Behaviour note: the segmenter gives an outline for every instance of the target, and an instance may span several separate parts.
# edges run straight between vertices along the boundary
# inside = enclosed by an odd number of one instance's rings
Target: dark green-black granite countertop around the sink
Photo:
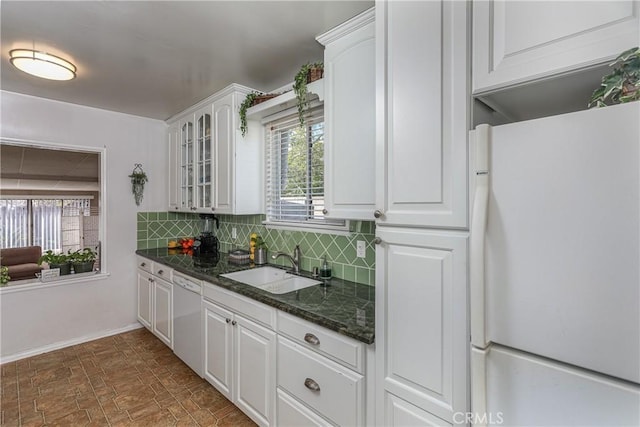
[[[333,278],[329,286],[311,286],[286,294],[271,294],[221,274],[246,270],[253,264],[236,265],[220,253],[216,262],[198,266],[190,255],[167,248],[139,249],[136,254],[208,283],[301,317],[340,334],[371,344],[374,341],[375,289],[373,286]],[[277,266],[276,266],[277,267]],[[307,272],[302,276],[311,277]]]

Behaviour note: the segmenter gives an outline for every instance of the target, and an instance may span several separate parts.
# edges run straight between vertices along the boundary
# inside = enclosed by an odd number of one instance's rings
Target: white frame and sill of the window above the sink
[[[311,110],[313,110],[314,114],[316,114],[316,116],[314,117],[315,119],[314,122],[317,123],[318,122],[317,119],[321,118],[320,121],[324,123],[325,115],[324,115],[324,106],[322,105],[322,103],[312,103]],[[317,113],[319,110],[322,111],[320,114]],[[269,162],[270,162],[270,155],[271,155],[270,150],[272,148],[272,141],[270,141],[271,130],[269,128],[274,124],[283,123],[290,120],[296,120],[296,121],[298,120],[298,111],[296,108],[289,108],[277,114],[265,117],[261,122],[263,126],[262,130],[263,130],[263,141],[264,141],[264,151],[265,151],[264,153],[265,154],[264,155],[264,174],[265,174],[265,202],[264,203],[265,205],[264,206],[265,206],[265,217],[266,217],[266,219],[262,222],[262,224],[266,228],[270,228],[270,229],[349,235],[350,224],[349,224],[349,221],[345,219],[334,219],[334,218],[325,219],[323,217],[322,219],[317,219],[317,220],[295,221],[295,220],[277,220],[277,219],[274,220],[270,218],[269,196],[270,196],[271,190],[269,188],[269,182],[271,182],[272,180],[269,177],[269,173],[270,173]],[[305,127],[308,127],[308,126],[309,124],[305,123]],[[308,132],[307,132],[307,136],[308,136]],[[307,138],[307,141],[308,141],[308,138]],[[326,141],[324,141],[324,131],[323,131],[323,143],[326,144]],[[325,161],[326,161],[326,154],[323,155],[323,168],[324,168]],[[310,165],[307,162],[307,169],[309,168],[310,168]],[[325,193],[324,193],[324,171],[323,171],[323,198],[324,197],[325,197]]]

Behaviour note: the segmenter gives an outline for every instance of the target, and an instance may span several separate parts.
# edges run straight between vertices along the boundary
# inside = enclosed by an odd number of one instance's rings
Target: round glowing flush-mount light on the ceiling
[[[9,56],[16,68],[43,79],[71,80],[76,76],[76,66],[59,56],[33,49],[13,49]]]

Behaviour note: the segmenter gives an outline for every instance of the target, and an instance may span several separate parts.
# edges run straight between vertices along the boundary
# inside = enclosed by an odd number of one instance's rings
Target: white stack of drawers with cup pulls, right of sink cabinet
[[[367,425],[365,347],[278,312],[278,425]]]

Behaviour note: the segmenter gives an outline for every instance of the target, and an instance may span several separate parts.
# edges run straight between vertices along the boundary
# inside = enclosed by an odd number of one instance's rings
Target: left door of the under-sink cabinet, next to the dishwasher
[[[204,302],[204,375],[227,399],[232,399],[233,313]]]

